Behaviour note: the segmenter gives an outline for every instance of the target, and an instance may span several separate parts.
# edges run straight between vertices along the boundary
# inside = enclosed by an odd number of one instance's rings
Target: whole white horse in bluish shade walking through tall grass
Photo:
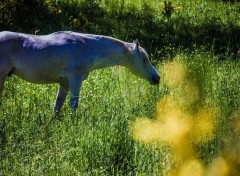
[[[0,32],[0,95],[5,78],[11,74],[32,83],[59,83],[55,113],[69,91],[70,107],[77,108],[82,81],[90,71],[114,65],[125,66],[151,84],[159,84],[159,74],[138,41],[127,43],[70,31],[42,36]]]

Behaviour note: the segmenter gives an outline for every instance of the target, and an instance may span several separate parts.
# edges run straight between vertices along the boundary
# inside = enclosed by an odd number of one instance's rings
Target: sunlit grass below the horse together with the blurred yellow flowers
[[[158,66],[159,87],[122,67],[94,71],[74,122],[68,104],[52,116],[56,85],[10,77],[0,107],[0,173],[237,175],[239,68],[212,54],[179,52]]]

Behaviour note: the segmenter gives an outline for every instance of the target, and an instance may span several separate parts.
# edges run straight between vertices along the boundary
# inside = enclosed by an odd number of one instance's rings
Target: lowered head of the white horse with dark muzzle
[[[149,61],[147,52],[139,46],[137,40],[131,44],[131,61],[128,65],[133,74],[147,80],[150,84],[158,85],[160,76]]]

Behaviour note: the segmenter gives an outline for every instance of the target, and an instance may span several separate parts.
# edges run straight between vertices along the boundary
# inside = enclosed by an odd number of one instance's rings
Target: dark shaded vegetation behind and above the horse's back
[[[155,58],[172,55],[180,46],[204,46],[237,57],[239,13],[240,3],[234,0],[5,0],[0,2],[0,30],[74,30],[127,41],[139,38]]]

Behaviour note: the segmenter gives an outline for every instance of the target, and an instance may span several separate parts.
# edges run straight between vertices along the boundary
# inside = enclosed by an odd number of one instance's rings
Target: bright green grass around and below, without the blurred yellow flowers
[[[196,146],[208,165],[226,142],[239,140],[233,124],[240,115],[240,65],[202,52],[179,52],[177,58],[196,75],[201,95],[209,97],[201,101],[220,109],[215,137]],[[58,118],[52,115],[56,92],[57,85],[7,79],[0,106],[0,174],[168,175],[170,146],[146,146],[130,130],[136,119],[154,119],[156,103],[174,93],[164,81],[150,86],[122,67],[93,71],[83,83],[74,122],[68,100]]]

